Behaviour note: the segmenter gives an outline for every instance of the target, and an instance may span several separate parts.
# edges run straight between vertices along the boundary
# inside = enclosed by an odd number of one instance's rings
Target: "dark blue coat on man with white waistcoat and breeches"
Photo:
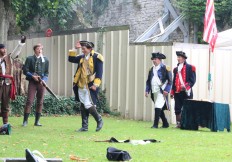
[[[164,88],[164,91],[170,92],[171,87],[172,87],[172,73],[166,65],[161,63],[160,66],[161,67],[158,70],[158,77],[163,84],[166,82],[166,80],[168,81],[166,87]],[[146,92],[151,93],[151,99],[154,101],[154,96],[153,96],[153,93],[151,92],[152,90],[151,80],[153,76],[154,74],[153,74],[153,66],[152,66],[148,73],[148,78],[146,82]],[[163,93],[163,90],[161,88],[160,88],[160,92]]]

